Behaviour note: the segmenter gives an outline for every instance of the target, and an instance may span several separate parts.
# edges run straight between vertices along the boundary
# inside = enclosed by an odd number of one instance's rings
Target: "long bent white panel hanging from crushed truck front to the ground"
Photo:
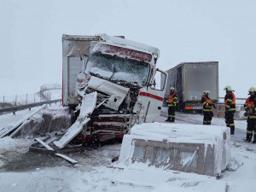
[[[97,92],[90,93],[83,97],[82,106],[80,108],[79,117],[76,122],[67,130],[65,135],[61,137],[59,141],[55,141],[54,144],[57,148],[64,148],[73,137],[76,137],[80,131],[83,130],[84,125],[90,121],[88,115],[96,108]]]

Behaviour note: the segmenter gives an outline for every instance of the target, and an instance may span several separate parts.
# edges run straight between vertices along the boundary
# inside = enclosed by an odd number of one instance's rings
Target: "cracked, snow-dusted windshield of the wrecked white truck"
[[[95,52],[90,55],[87,61],[85,73],[93,73],[110,80],[146,84],[149,64],[143,61]]]

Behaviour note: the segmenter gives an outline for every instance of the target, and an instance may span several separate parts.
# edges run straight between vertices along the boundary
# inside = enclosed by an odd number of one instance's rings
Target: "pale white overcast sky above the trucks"
[[[61,84],[61,35],[125,35],[160,49],[158,67],[219,61],[219,90],[256,86],[254,0],[0,0],[0,96]]]

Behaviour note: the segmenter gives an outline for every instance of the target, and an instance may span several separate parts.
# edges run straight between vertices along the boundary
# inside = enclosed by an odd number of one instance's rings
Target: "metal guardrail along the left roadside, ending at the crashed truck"
[[[51,103],[57,103],[57,102],[61,102],[61,99],[56,99],[56,100],[52,100],[52,101],[49,101],[49,102],[35,102],[35,103],[15,106],[15,107],[11,107],[11,108],[0,108],[0,114],[2,114],[2,113],[14,113],[15,114],[16,111],[24,110],[24,109],[27,109],[27,108],[29,110],[31,110],[31,108],[42,106],[44,104],[49,104],[50,105]]]

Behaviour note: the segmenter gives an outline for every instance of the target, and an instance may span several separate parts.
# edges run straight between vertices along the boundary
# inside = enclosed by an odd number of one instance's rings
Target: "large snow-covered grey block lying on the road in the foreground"
[[[230,133],[224,126],[148,123],[135,125],[123,139],[113,166],[156,166],[220,176],[230,160]]]

